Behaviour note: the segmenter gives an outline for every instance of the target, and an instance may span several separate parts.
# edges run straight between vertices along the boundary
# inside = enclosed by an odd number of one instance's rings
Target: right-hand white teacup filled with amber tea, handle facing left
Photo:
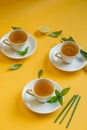
[[[65,41],[62,43],[60,52],[57,56],[65,63],[71,63],[74,58],[80,53],[79,45],[73,41]]]

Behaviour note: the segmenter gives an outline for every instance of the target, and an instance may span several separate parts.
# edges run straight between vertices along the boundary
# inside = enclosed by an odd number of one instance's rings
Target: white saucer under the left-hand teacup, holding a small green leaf
[[[6,34],[5,36],[3,36],[0,40],[0,50],[1,52],[12,59],[23,59],[23,58],[27,58],[28,56],[32,55],[35,50],[36,50],[36,40],[34,39],[34,37],[32,35],[29,34],[29,42],[24,45],[23,50],[26,47],[29,47],[28,49],[28,53],[21,56],[20,54],[18,54],[17,52],[13,51],[9,46],[7,46],[6,44],[3,43],[3,40],[6,39],[8,37],[8,34]]]

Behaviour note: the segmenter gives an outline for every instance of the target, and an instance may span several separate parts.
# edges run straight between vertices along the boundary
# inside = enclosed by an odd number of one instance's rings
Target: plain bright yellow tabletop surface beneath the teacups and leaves
[[[39,26],[47,26],[50,32],[62,30],[58,38],[37,33]],[[69,130],[87,130],[87,72],[64,72],[55,68],[49,60],[49,51],[60,43],[61,37],[72,36],[87,50],[87,0],[3,0],[0,2],[0,38],[21,27],[37,41],[36,51],[25,59],[11,59],[0,52],[0,130],[65,130],[70,114],[64,122],[54,123],[73,94],[81,101],[71,121]],[[23,64],[18,70],[10,70],[13,64]],[[25,107],[22,90],[27,83],[38,78],[49,78],[62,88],[70,87],[63,106],[50,114],[38,114]]]

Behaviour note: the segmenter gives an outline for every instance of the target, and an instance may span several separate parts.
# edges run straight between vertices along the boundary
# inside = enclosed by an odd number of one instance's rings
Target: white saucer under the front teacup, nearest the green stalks
[[[25,104],[25,106],[35,112],[35,113],[39,113],[39,114],[48,114],[48,113],[52,113],[56,110],[58,110],[61,105],[58,102],[55,103],[39,103],[38,101],[36,101],[35,97],[29,95],[26,93],[26,90],[28,90],[29,88],[32,88],[32,86],[34,85],[34,83],[36,82],[35,79],[31,82],[29,82],[23,89],[22,91],[22,100]],[[51,80],[52,81],[52,80]],[[59,91],[62,90],[62,88],[60,87],[60,85],[58,85],[56,82],[52,81],[55,88],[58,89]]]

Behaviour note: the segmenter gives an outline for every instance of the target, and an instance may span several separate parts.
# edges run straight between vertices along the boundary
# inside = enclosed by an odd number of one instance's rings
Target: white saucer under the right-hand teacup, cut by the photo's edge
[[[64,63],[62,59],[57,58],[55,54],[60,51],[61,45],[62,43],[57,44],[49,52],[49,59],[54,67],[62,71],[73,72],[82,69],[87,64],[87,60],[81,54],[71,64]]]

